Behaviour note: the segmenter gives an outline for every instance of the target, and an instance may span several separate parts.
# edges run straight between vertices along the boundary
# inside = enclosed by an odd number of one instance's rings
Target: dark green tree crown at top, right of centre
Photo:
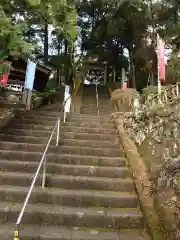
[[[133,72],[135,58],[146,57],[144,65],[148,64],[151,55],[147,54],[148,50],[146,50],[149,27],[147,4],[138,0],[94,0],[83,1],[78,10],[83,40],[82,49],[87,51],[87,54],[98,56],[100,62],[106,62],[109,68],[115,68],[118,75],[121,75],[122,68],[127,70],[129,65]],[[146,54],[137,54],[141,47],[145,49]],[[129,51],[131,59],[124,56],[125,49]],[[137,68],[140,69],[140,67],[142,68],[137,65]]]

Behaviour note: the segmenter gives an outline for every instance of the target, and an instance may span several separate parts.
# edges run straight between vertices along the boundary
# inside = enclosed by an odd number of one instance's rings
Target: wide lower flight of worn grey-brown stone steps
[[[107,106],[107,105],[106,105]],[[0,239],[12,239],[59,112],[31,111],[0,133]],[[147,240],[125,153],[108,115],[69,114],[39,176],[20,240]]]

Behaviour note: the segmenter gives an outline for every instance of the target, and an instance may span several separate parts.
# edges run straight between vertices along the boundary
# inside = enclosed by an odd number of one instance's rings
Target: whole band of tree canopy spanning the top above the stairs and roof
[[[177,57],[179,10],[178,0],[2,0],[0,60],[24,55],[69,81],[84,59],[95,56],[108,73],[116,72],[116,81],[125,68],[130,86],[140,89],[152,65],[156,69],[157,33]],[[156,71],[152,75],[156,79]]]

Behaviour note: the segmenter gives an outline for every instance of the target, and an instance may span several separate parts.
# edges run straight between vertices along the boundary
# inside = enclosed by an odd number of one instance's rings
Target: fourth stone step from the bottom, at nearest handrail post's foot
[[[34,174],[22,172],[0,172],[0,185],[30,186]],[[41,185],[42,175],[38,177],[37,185]],[[47,175],[47,187],[66,189],[85,189],[133,192],[134,185],[129,178],[105,178],[69,175]]]

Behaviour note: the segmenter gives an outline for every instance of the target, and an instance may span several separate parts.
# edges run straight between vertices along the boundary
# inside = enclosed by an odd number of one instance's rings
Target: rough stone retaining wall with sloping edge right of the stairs
[[[180,101],[113,117],[153,239],[179,240]]]

